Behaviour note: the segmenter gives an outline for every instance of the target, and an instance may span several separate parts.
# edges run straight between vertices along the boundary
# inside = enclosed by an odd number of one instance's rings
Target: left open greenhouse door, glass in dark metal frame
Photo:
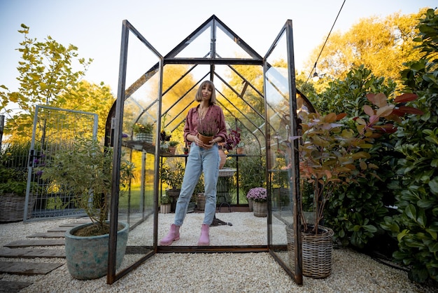
[[[122,24],[118,95],[111,110],[114,150],[111,231],[107,283],[112,284],[157,252],[158,147],[162,93],[160,53],[127,21]],[[149,70],[145,73],[145,68]],[[134,124],[152,125],[150,139],[138,139]],[[108,125],[107,125],[108,129]],[[134,179],[120,184],[120,162],[134,164]],[[129,224],[127,240],[118,237],[118,222]],[[124,243],[125,242],[125,243]],[[118,252],[124,250],[120,259]]]

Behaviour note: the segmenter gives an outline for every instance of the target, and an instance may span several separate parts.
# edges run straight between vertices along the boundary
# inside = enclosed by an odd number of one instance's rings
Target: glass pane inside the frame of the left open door
[[[159,61],[160,57],[129,31],[121,169],[124,162],[134,164],[134,178],[125,186],[124,182],[120,184],[118,219],[129,224],[129,234],[125,257],[117,273],[153,251],[155,145],[160,142],[156,134]],[[136,123],[145,127],[136,128]]]

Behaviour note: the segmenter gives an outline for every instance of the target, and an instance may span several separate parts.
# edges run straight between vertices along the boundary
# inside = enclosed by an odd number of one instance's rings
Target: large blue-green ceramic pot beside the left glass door
[[[125,256],[129,224],[118,223],[122,229],[117,232],[116,269]],[[65,233],[65,254],[69,273],[78,280],[92,280],[106,275],[108,270],[109,234],[100,236],[74,236],[73,233],[92,224],[76,226]]]

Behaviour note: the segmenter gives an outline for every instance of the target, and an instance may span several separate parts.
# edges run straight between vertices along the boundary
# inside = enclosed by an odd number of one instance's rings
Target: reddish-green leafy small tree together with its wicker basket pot
[[[396,97],[395,103],[415,99],[415,95]],[[302,136],[299,145],[299,176],[313,186],[313,204],[310,213],[302,207],[302,253],[303,274],[312,278],[325,278],[332,267],[332,236],[330,228],[320,225],[324,218],[324,208],[334,191],[341,185],[355,184],[359,177],[379,178],[379,167],[367,162],[368,149],[373,147],[376,137],[382,132],[395,131],[391,119],[402,114],[415,113],[416,109],[389,104],[383,94],[368,94],[370,104],[364,106],[364,116],[353,121],[344,119],[346,114],[330,113],[322,116],[318,113],[299,112],[302,119]],[[382,119],[381,119],[382,118]],[[344,119],[344,120],[342,120]],[[309,217],[305,217],[308,215]],[[375,229],[367,226],[365,229]],[[292,229],[286,227],[288,248],[292,250]],[[290,251],[290,257],[293,251]],[[292,260],[292,259],[291,259]]]

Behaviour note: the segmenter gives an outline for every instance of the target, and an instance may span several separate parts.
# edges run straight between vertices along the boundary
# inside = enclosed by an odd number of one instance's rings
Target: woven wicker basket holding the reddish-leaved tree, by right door
[[[302,272],[309,278],[326,278],[332,273],[333,230],[319,226],[323,233],[314,235],[302,233]],[[288,238],[288,258],[290,266],[294,266],[294,247],[292,226],[286,226]]]

